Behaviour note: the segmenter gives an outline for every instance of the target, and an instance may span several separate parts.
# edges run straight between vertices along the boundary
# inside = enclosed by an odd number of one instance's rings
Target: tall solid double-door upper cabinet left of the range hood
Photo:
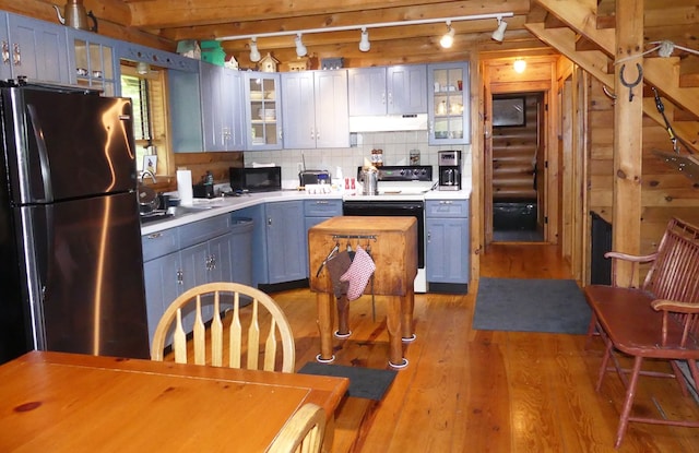
[[[286,148],[348,147],[347,72],[283,73],[282,118]]]

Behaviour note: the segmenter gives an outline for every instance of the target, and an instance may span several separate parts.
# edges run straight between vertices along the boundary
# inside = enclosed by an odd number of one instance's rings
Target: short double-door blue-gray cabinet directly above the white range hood
[[[351,117],[427,112],[427,67],[404,64],[347,70]]]

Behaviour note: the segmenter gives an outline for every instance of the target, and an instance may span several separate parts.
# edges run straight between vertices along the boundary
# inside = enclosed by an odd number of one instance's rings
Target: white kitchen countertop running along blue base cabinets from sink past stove
[[[415,196],[411,195],[410,200],[415,200]],[[440,191],[433,190],[422,198],[424,200],[467,200],[471,196],[471,191],[467,190],[453,190],[453,191]],[[331,192],[328,194],[308,194],[298,190],[281,190],[276,192],[260,192],[244,194],[241,196],[218,196],[215,199],[194,199],[192,210],[194,212],[177,215],[174,217],[167,217],[162,220],[154,220],[141,226],[141,235],[151,235],[153,233],[162,231],[168,228],[175,228],[178,226],[187,225],[192,222],[202,220],[204,218],[215,217],[221,214],[242,210],[245,207],[254,206],[260,203],[269,203],[276,201],[294,201],[294,200],[368,200],[377,196],[367,195],[353,195],[345,194],[344,192]],[[380,195],[380,200],[406,200],[405,195]]]

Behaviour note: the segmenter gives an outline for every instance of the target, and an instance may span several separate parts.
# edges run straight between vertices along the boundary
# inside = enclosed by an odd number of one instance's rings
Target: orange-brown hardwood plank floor
[[[567,278],[545,245],[494,245],[482,257],[494,277]],[[607,374],[594,391],[602,347],[583,335],[474,331],[477,283],[469,295],[416,295],[417,341],[410,366],[383,401],[346,398],[336,414],[333,452],[614,452],[623,386]],[[273,294],[296,337],[296,369],[319,350],[315,295]],[[380,298],[351,305],[353,335],[335,339],[336,363],[387,368],[388,334]],[[675,382],[643,378],[633,410],[699,419],[699,406]],[[699,430],[631,424],[618,452],[699,452]]]

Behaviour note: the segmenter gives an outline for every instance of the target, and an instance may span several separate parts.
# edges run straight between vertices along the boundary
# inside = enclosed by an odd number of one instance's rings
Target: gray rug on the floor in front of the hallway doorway
[[[473,329],[584,334],[590,315],[572,279],[481,277]]]

